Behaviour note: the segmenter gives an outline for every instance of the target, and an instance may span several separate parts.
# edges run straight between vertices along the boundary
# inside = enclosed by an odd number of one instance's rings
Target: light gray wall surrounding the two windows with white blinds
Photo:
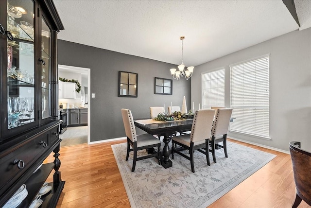
[[[195,68],[191,101],[201,102],[201,73],[225,67],[225,106],[230,107],[229,65],[270,53],[270,137],[259,139],[228,133],[228,137],[289,151],[298,140],[311,151],[311,28],[294,31]]]

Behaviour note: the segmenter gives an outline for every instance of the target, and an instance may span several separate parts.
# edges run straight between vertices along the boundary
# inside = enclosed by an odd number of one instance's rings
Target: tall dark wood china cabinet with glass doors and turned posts
[[[28,207],[48,176],[41,207],[56,207],[61,180],[57,33],[64,26],[52,0],[0,0],[0,207],[26,185]],[[43,161],[54,153],[54,162]],[[40,168],[38,168],[42,165]]]

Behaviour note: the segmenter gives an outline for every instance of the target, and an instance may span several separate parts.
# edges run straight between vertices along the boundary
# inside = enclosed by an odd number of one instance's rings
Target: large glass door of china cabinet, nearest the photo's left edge
[[[34,2],[7,1],[8,129],[35,122]]]

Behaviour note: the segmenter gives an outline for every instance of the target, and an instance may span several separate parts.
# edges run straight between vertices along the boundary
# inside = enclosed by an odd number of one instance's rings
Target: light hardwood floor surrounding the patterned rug
[[[295,196],[291,156],[228,140],[275,154],[276,157],[208,208],[290,208]],[[129,208],[130,203],[110,147],[111,144],[123,142],[126,140],[62,147],[60,171],[66,184],[57,208]],[[52,155],[45,162],[52,162]],[[52,181],[52,174],[48,181]],[[299,208],[310,206],[302,201]]]

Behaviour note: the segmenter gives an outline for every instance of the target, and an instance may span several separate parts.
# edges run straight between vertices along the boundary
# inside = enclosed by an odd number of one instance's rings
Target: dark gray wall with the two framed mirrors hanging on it
[[[173,95],[154,94],[155,77],[172,79],[170,69],[176,65],[58,40],[58,64],[91,69],[90,140],[125,136],[121,108],[132,111],[134,119],[150,116],[150,106],[182,105],[186,96],[190,109],[191,81],[173,80]],[[138,73],[138,98],[118,97],[119,71]],[[144,133],[137,131],[138,134]]]

